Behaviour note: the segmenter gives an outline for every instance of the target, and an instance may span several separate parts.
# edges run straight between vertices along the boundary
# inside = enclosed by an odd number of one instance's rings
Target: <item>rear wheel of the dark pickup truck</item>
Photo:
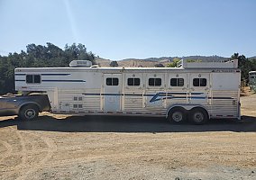
[[[21,118],[23,121],[32,121],[35,120],[38,117],[39,114],[39,108],[35,104],[28,104],[24,105],[20,112],[19,112],[19,118]]]

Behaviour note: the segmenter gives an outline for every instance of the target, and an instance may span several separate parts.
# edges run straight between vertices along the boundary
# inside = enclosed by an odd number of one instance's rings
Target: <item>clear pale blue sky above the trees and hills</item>
[[[256,56],[255,0],[0,0],[0,54],[73,42],[96,56]]]

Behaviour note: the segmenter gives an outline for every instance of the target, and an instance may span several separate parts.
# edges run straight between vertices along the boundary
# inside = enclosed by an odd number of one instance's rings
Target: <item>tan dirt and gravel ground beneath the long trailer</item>
[[[0,119],[0,179],[256,179],[256,94],[242,121],[51,115]]]

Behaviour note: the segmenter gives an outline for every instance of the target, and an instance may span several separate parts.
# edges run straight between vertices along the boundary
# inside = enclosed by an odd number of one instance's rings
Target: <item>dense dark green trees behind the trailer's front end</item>
[[[66,44],[64,50],[47,42],[46,46],[28,44],[26,51],[0,56],[0,94],[14,93],[15,67],[68,67],[72,60],[90,60],[95,63],[95,55],[87,53],[83,44]]]

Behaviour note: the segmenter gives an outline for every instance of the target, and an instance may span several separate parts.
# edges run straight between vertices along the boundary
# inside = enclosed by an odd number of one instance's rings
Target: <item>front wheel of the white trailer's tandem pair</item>
[[[168,119],[173,123],[183,123],[187,121],[186,110],[182,107],[175,107],[169,110]]]

